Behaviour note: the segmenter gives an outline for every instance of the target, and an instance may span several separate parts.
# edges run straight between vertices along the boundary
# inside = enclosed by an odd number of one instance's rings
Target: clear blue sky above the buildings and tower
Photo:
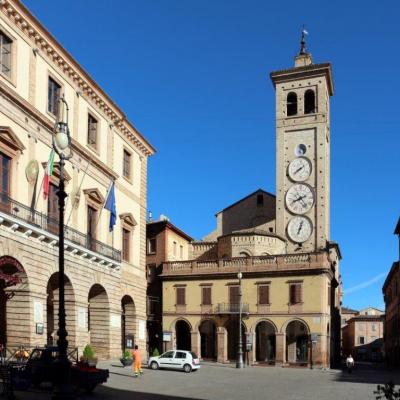
[[[344,305],[383,307],[398,257],[400,5],[393,1],[26,0],[157,148],[148,205],[195,238],[216,211],[275,192],[274,90],[301,26],[333,65],[331,238]],[[323,4],[323,6],[322,6]]]

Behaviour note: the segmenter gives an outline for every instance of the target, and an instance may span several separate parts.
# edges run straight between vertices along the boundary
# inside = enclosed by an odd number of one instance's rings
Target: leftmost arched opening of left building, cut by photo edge
[[[0,344],[30,342],[29,280],[25,268],[14,257],[0,257]]]

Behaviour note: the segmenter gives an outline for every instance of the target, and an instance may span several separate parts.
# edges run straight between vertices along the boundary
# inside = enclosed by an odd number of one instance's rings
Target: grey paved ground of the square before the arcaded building
[[[180,371],[144,370],[134,378],[130,367],[119,362],[100,363],[110,369],[106,385],[93,395],[81,399],[134,400],[246,400],[246,399],[375,399],[378,383],[393,380],[400,384],[400,371],[372,366],[358,366],[353,374],[341,370],[308,370],[296,368],[250,367],[205,363],[191,374]],[[17,392],[18,399],[50,399],[50,392]]]

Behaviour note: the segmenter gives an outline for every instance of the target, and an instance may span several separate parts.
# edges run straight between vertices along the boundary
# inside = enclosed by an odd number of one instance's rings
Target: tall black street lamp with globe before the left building
[[[64,166],[65,160],[72,157],[71,135],[68,127],[68,104],[64,96],[59,99],[58,116],[53,129],[52,146],[60,157],[60,181],[58,184],[58,287],[59,287],[59,308],[58,308],[58,358],[54,364],[55,386],[52,399],[72,399],[72,387],[70,385],[71,363],[68,360],[67,349],[68,332],[65,323],[65,293],[64,293],[64,207],[67,194],[64,190]],[[60,113],[61,111],[61,113]],[[65,114],[64,114],[65,111]],[[60,118],[61,115],[61,118]],[[64,120],[65,116],[65,120]],[[50,372],[50,371],[49,371]]]

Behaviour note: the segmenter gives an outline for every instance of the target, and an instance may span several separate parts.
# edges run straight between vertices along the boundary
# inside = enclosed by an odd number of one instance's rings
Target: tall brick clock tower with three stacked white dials
[[[287,252],[326,248],[329,238],[329,63],[313,64],[304,33],[294,68],[271,73],[276,90],[276,233]]]

